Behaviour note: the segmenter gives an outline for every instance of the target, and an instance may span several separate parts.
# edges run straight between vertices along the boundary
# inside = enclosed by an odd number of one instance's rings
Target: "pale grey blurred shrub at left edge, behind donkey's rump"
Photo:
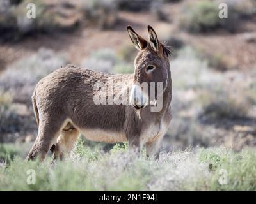
[[[42,77],[66,64],[63,56],[40,48],[36,54],[11,64],[0,76],[0,88],[12,92],[13,101],[31,104],[31,95]]]

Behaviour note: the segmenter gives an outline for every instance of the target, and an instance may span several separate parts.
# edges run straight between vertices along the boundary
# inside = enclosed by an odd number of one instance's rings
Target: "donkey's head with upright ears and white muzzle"
[[[138,35],[130,25],[127,31],[135,48],[140,50],[134,61],[134,81],[130,94],[130,103],[134,108],[140,109],[156,103],[157,96],[163,94],[168,87],[170,50],[158,40],[150,25],[148,41]]]

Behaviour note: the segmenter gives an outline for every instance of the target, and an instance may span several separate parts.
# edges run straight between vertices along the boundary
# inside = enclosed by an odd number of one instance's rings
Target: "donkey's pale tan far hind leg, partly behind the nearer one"
[[[79,136],[79,131],[72,125],[68,124],[62,129],[61,135],[57,138],[57,143],[53,150],[52,160],[63,159],[63,155],[66,152],[70,152],[74,149],[74,145]]]

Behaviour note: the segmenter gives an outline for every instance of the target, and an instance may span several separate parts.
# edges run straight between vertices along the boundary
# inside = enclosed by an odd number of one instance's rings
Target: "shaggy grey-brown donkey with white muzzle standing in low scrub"
[[[170,50],[148,26],[145,40],[129,25],[129,37],[139,50],[134,61],[134,74],[113,75],[67,65],[42,78],[35,87],[32,102],[38,136],[26,157],[44,159],[49,149],[54,158],[62,158],[73,149],[81,133],[98,142],[128,141],[129,149],[140,152],[146,145],[147,156],[159,155],[159,144],[171,121],[172,79],[168,56]],[[108,95],[95,84],[113,80],[114,95],[129,90],[128,104],[95,104],[95,94]],[[161,83],[148,97],[138,84]],[[117,87],[117,88],[116,88]],[[161,96],[161,110],[152,112],[152,101]],[[156,106],[156,104],[154,104]]]

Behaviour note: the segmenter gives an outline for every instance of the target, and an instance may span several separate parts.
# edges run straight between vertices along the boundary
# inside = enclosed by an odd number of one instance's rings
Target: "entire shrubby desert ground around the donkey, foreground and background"
[[[227,21],[218,18],[219,1],[33,2],[39,17],[29,24],[26,0],[0,5],[1,190],[256,190],[255,1],[225,1]],[[148,22],[173,50],[173,119],[160,161],[129,156],[126,144],[79,139],[63,162],[24,163],[37,133],[38,80],[67,63],[132,73],[136,50],[125,26],[146,36]],[[26,184],[28,168],[35,186]],[[230,176],[225,186],[221,168]]]

